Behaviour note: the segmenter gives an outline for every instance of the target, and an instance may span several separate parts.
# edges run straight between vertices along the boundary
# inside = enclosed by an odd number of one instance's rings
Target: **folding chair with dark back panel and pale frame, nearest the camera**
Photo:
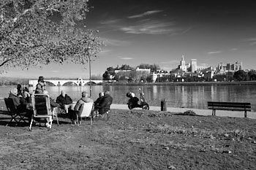
[[[34,118],[45,118],[50,120],[50,126],[53,123],[53,117],[56,116],[57,123],[59,125],[58,115],[54,115],[50,109],[50,97],[47,94],[34,94],[32,95],[32,107],[33,107],[33,115],[31,118],[31,123],[29,126],[29,130],[31,130],[31,126],[33,123]]]

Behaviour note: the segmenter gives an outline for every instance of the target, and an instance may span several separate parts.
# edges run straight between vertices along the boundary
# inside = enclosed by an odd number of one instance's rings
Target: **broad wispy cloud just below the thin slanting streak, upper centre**
[[[143,20],[137,26],[127,26],[121,28],[121,31],[129,34],[173,34],[177,30],[171,28],[172,22],[160,22],[157,20]]]

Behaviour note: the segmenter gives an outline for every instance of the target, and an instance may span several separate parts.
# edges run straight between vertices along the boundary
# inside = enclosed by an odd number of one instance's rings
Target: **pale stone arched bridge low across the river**
[[[89,84],[90,80],[45,80],[45,82],[51,82],[53,85],[64,85],[67,82],[72,82],[73,85],[83,86]],[[103,82],[102,80],[91,80],[91,84],[97,84]],[[37,80],[29,80],[29,86],[35,87],[37,85]]]

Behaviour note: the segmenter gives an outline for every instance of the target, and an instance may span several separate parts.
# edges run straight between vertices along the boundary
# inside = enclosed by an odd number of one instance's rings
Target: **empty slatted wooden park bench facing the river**
[[[212,109],[212,115],[216,115],[216,110],[231,110],[231,111],[244,111],[244,117],[246,117],[247,111],[251,111],[251,103],[240,102],[219,102],[208,101],[208,109]]]

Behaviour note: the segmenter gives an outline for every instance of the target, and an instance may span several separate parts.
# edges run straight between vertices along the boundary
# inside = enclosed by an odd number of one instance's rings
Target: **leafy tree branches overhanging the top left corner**
[[[87,63],[103,42],[96,31],[76,26],[88,0],[1,0],[0,72],[48,63]]]

